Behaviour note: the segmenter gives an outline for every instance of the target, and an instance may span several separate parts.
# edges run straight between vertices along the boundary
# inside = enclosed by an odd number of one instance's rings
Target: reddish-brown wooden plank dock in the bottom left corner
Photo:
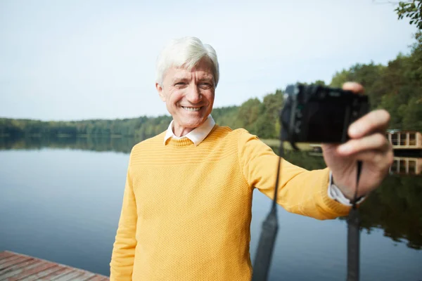
[[[109,278],[87,270],[64,266],[63,264],[13,253],[12,251],[1,251],[0,280],[103,281],[109,280]]]

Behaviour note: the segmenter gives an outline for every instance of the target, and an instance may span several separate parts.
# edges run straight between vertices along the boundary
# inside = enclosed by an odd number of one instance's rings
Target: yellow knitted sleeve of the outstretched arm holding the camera
[[[248,185],[273,200],[279,156],[257,136],[243,131],[238,138],[238,157]],[[277,203],[287,211],[312,218],[347,215],[350,207],[328,197],[328,181],[328,168],[307,171],[282,159]]]

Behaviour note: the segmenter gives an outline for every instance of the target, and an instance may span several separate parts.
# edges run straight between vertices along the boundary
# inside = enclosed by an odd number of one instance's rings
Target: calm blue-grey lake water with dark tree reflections
[[[0,251],[109,275],[131,139],[0,138]],[[286,159],[324,167],[305,152]],[[362,280],[422,280],[422,178],[389,176],[362,205]],[[270,200],[255,191],[251,256]],[[270,280],[345,280],[344,219],[279,208]]]

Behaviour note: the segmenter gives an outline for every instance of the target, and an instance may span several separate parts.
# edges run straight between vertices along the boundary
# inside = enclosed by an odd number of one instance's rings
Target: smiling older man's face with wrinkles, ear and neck
[[[203,124],[212,111],[215,81],[208,60],[200,60],[190,71],[170,68],[162,86],[155,87],[173,117],[176,136],[184,136]]]

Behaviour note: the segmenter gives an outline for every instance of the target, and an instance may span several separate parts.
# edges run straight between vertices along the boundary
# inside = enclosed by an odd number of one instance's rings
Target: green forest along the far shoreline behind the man
[[[328,86],[340,87],[345,81],[357,81],[365,87],[371,109],[390,112],[390,129],[422,131],[422,32],[416,32],[414,39],[409,54],[399,53],[387,65],[357,63],[336,72]],[[319,80],[314,84],[325,83]],[[262,100],[250,98],[238,106],[214,108],[212,117],[221,126],[244,128],[260,138],[278,138],[283,93],[283,89],[277,89]],[[143,140],[165,131],[171,120],[168,115],[69,122],[0,118],[0,137],[111,136]]]

